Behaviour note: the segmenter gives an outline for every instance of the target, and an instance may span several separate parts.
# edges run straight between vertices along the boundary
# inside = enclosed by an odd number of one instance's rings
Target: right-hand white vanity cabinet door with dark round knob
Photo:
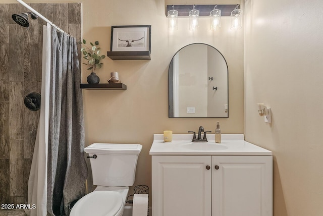
[[[272,156],[212,156],[212,216],[272,216],[272,161]]]

